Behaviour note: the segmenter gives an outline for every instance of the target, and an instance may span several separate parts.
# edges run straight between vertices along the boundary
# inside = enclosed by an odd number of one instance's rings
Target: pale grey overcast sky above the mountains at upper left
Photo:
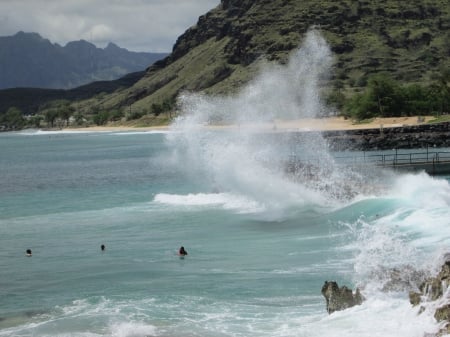
[[[0,36],[36,32],[53,43],[114,42],[170,52],[178,36],[220,0],[0,0]]]

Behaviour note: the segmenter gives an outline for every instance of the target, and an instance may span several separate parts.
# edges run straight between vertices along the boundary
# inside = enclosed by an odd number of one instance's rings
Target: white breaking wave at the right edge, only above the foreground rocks
[[[417,288],[437,272],[450,245],[449,182],[421,172],[397,175],[391,183],[384,195],[367,200],[384,205],[382,212],[367,209],[355,222],[342,223],[354,251],[354,283],[366,292]]]

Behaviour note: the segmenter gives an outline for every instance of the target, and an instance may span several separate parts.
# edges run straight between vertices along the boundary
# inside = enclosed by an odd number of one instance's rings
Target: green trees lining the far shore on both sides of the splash
[[[328,103],[334,105],[340,114],[355,120],[375,117],[401,117],[420,115],[441,115],[450,112],[450,70],[445,70],[429,84],[400,84],[389,74],[378,73],[368,78],[363,92],[346,97],[339,81],[328,96]],[[43,106],[40,113],[24,117],[22,111],[11,107],[0,114],[0,130],[20,130],[24,127],[49,128],[83,124],[105,125],[108,122],[140,119],[146,115],[155,117],[167,113],[168,120],[175,109],[175,99],[153,103],[149,108],[102,109],[91,108],[88,115],[77,112],[68,100],[57,100]]]

